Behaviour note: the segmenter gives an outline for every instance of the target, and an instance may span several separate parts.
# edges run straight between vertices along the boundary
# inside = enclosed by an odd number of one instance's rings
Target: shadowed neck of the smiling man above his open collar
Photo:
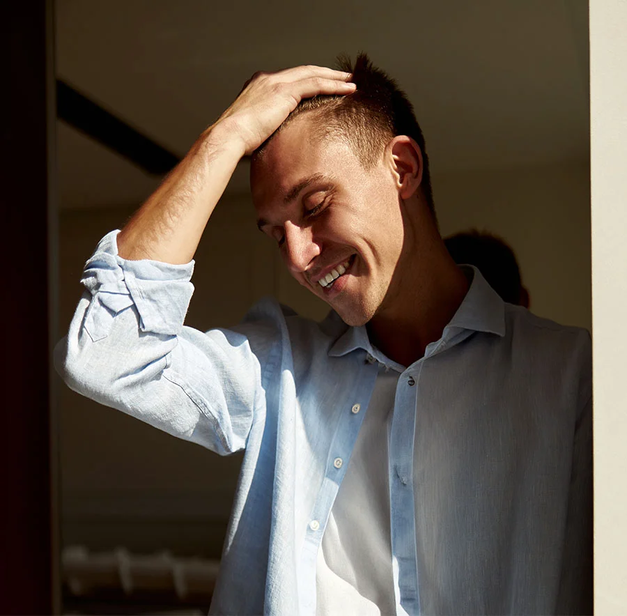
[[[424,357],[426,346],[442,337],[469,287],[437,231],[435,234],[428,250],[421,251],[413,263],[397,268],[402,273],[394,276],[385,308],[367,325],[372,343],[403,366]]]

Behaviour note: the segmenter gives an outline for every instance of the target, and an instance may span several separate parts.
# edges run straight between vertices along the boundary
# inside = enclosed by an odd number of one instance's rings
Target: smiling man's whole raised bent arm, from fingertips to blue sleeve
[[[348,77],[316,66],[255,75],[118,236],[100,242],[86,265],[87,292],[56,349],[72,389],[219,453],[245,446],[263,403],[258,348],[281,344],[281,334],[184,328],[191,260],[242,155],[302,98],[354,91]]]

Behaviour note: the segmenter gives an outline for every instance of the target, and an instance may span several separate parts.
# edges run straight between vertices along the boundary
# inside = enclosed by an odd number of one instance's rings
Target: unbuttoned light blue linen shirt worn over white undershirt
[[[86,263],[57,369],[73,390],[219,454],[245,449],[215,614],[313,615],[316,557],[380,364],[398,614],[591,611],[589,334],[504,304],[478,270],[410,367],[331,313],[262,300],[183,325],[193,263]],[[374,361],[376,360],[376,361]]]

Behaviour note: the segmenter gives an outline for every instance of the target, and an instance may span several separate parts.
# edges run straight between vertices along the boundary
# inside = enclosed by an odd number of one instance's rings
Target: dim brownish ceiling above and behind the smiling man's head
[[[582,0],[56,1],[58,77],[178,155],[256,70],[363,50],[414,103],[434,175],[587,160],[587,37]],[[62,208],[160,181],[62,122],[58,148]]]

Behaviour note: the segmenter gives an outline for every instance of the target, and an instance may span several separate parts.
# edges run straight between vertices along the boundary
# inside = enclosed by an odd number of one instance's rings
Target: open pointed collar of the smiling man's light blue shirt
[[[442,338],[447,339],[459,330],[488,332],[503,337],[505,335],[503,300],[486,282],[477,268],[473,265],[461,265],[460,267],[470,280],[470,288],[468,288],[465,298],[453,318],[444,328]],[[323,321],[323,328],[328,333],[338,336],[329,349],[328,355],[330,357],[341,357],[341,355],[347,355],[357,349],[364,349],[373,355],[376,353],[368,339],[365,326],[349,327],[334,310]]]

